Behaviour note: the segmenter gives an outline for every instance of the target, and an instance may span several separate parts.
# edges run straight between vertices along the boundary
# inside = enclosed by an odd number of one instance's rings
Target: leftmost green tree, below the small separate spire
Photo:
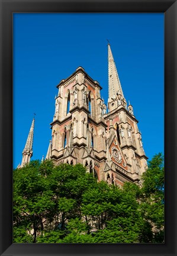
[[[44,223],[54,208],[54,194],[46,178],[52,168],[52,162],[32,161],[14,170],[14,242],[18,242],[22,227],[33,237],[34,243],[37,233],[44,231]],[[25,232],[21,232],[22,240],[24,235]]]

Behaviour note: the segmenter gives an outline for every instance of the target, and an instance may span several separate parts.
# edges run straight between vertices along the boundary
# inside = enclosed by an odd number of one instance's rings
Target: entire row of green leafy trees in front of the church
[[[81,164],[31,161],[14,170],[14,242],[163,242],[163,157],[143,187],[98,183]]]

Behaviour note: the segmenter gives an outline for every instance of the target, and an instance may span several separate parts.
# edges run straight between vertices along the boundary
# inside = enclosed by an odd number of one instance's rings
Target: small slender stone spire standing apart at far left
[[[31,124],[30,132],[28,134],[27,142],[24,150],[22,151],[21,167],[30,162],[31,156],[33,156],[33,135],[34,135],[34,118]]]

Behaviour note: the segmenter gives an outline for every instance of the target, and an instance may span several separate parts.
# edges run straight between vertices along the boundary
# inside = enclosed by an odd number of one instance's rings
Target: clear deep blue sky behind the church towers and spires
[[[33,158],[46,156],[56,85],[82,66],[108,98],[111,43],[149,159],[164,152],[163,14],[14,14],[14,168],[36,113]]]

